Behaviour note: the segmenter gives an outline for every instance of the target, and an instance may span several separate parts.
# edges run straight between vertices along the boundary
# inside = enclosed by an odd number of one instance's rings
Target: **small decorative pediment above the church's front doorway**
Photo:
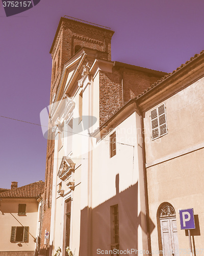
[[[70,175],[71,172],[74,172],[75,163],[70,158],[63,157],[58,171],[58,177],[65,181]]]

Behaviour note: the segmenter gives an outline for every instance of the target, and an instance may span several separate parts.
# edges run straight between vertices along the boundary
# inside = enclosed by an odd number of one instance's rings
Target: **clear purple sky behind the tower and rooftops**
[[[49,103],[49,54],[61,16],[111,27],[112,60],[172,72],[204,49],[203,0],[41,0],[6,17],[0,3],[0,116],[40,124]],[[0,117],[0,187],[44,180],[41,127]]]

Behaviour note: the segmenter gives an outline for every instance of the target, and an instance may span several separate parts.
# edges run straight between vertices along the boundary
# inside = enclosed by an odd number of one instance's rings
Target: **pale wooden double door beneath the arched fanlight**
[[[161,218],[160,226],[163,256],[179,256],[179,241],[177,237],[176,218]]]

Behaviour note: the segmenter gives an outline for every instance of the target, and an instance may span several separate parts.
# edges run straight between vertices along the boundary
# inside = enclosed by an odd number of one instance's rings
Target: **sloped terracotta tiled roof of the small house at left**
[[[37,181],[0,193],[0,198],[36,198],[44,191],[44,181]]]

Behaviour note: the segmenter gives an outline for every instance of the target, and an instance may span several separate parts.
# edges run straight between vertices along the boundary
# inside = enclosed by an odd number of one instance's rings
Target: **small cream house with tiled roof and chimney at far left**
[[[41,194],[44,182],[38,181],[0,193],[0,255],[34,256],[41,225]]]

